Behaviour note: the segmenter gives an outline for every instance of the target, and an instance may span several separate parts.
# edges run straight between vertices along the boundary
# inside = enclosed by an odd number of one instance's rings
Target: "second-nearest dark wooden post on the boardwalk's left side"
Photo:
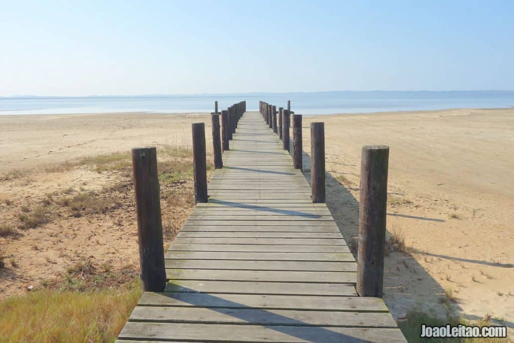
[[[205,156],[205,124],[194,123],[193,128],[193,176],[196,202],[207,202],[207,161]]]

